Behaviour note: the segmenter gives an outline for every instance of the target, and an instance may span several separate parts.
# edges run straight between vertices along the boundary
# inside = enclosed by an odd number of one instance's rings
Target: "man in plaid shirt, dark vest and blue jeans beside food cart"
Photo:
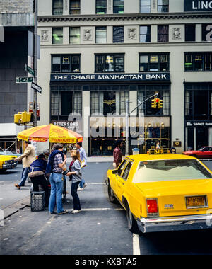
[[[57,207],[57,214],[66,214],[63,209],[62,193],[64,188],[63,166],[66,164],[66,156],[63,154],[63,145],[54,144],[53,151],[49,156],[46,173],[51,172],[51,195],[49,198],[49,213],[54,213],[54,207]]]

